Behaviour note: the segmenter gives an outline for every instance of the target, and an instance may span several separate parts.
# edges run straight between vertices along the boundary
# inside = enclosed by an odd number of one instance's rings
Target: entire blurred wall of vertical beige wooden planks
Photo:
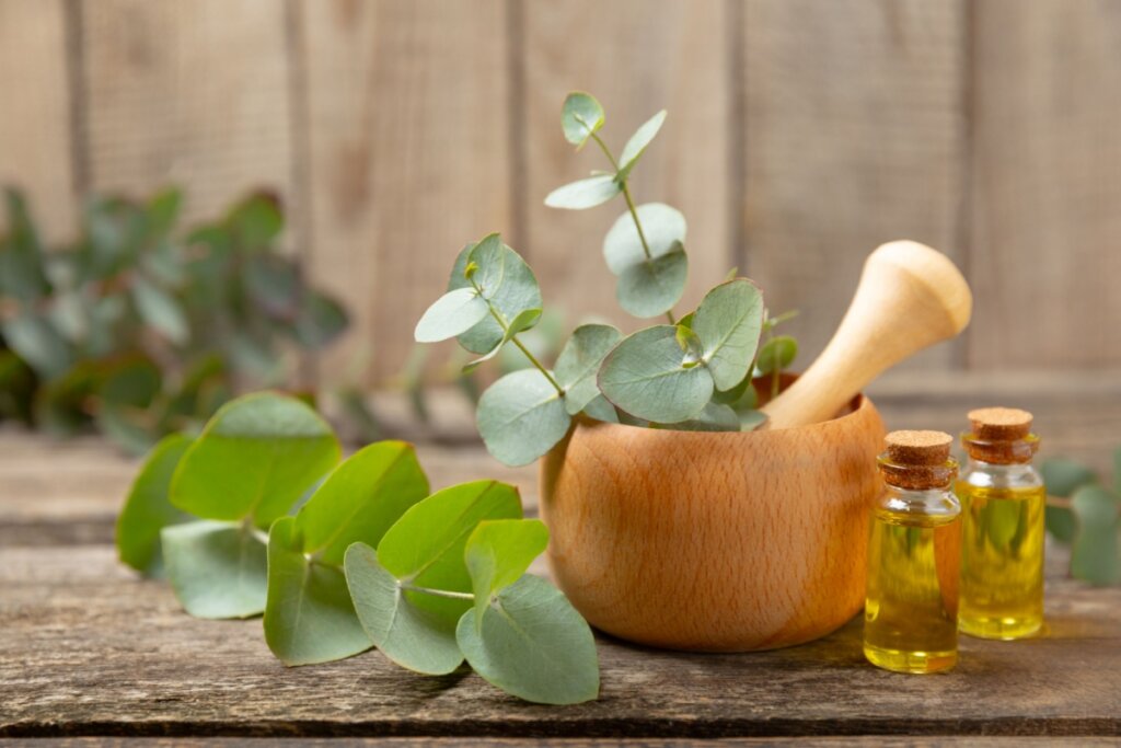
[[[492,230],[547,304],[624,322],[600,255],[621,203],[541,204],[603,166],[560,136],[572,89],[617,149],[669,110],[633,185],[689,220],[686,303],[740,267],[802,310],[804,364],[907,237],[976,294],[912,369],[1121,367],[1115,0],[0,0],[0,183],[56,240],[90,191],[179,183],[201,218],[276,190],[356,323],[321,373],[372,345],[383,380]]]

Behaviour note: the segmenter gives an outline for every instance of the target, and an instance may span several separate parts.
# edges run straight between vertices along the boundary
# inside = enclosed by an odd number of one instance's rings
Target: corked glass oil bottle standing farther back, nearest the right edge
[[[962,435],[969,464],[957,480],[962,502],[964,634],[986,639],[1031,636],[1044,622],[1047,489],[1031,467],[1039,437],[1031,414],[981,408]]]

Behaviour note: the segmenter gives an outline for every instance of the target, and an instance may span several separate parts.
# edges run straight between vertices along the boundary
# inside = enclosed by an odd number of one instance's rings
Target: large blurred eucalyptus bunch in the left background
[[[22,195],[6,198],[0,419],[57,435],[92,424],[140,453],[239,389],[290,381],[299,351],[346,329],[343,307],[278,252],[284,216],[268,194],[185,232],[177,190],[95,197],[77,240],[50,249]]]

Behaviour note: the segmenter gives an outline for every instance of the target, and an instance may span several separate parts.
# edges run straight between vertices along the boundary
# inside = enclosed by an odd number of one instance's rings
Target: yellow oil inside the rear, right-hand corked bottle
[[[1044,622],[1047,489],[983,488],[958,481],[962,599],[958,627],[986,639],[1018,639]]]

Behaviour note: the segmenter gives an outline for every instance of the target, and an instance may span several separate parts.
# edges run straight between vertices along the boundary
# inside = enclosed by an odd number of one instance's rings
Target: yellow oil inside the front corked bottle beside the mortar
[[[868,557],[864,656],[901,673],[957,662],[961,518],[877,508]]]

